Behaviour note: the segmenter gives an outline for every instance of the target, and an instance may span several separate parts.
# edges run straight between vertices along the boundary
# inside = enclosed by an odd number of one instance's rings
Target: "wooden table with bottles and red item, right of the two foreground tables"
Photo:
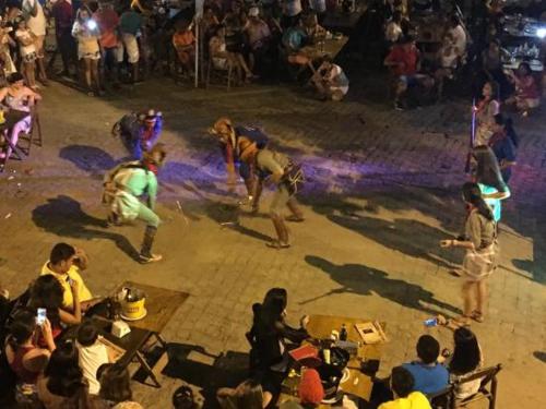
[[[311,339],[305,344],[319,350],[319,360],[309,366],[318,365],[325,392],[323,405],[339,402],[343,394],[369,401],[371,376],[379,370],[382,345],[387,341],[384,326],[384,323],[343,316],[309,317],[307,330]],[[363,330],[366,333],[368,327],[378,332],[373,339],[366,338],[365,342]],[[282,385],[281,402],[296,398],[301,371],[305,371],[305,360],[293,362]]]

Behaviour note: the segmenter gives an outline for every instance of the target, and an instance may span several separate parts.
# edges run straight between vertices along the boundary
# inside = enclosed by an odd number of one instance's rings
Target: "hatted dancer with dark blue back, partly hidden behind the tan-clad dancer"
[[[246,142],[254,143],[257,149],[264,148],[269,143],[269,136],[259,128],[251,125],[237,125],[232,123],[229,118],[219,118],[214,122],[210,133],[215,135],[221,144],[222,152],[227,168],[227,184],[233,191],[236,183],[236,166],[239,168],[239,175],[245,181],[249,201],[252,201],[254,191],[254,171],[252,166],[239,159],[240,145]],[[253,208],[254,212],[258,207]]]

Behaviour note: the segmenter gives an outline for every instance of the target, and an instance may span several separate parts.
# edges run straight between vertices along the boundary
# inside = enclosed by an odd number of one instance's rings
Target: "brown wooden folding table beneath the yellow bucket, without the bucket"
[[[124,353],[118,360],[120,365],[127,368],[132,361],[136,360],[140,368],[152,378],[154,386],[161,387],[157,375],[167,364],[167,342],[163,339],[161,333],[189,294],[132,281],[123,282],[116,292],[119,292],[123,287],[134,287],[144,291],[146,294],[144,305],[147,310],[146,316],[139,321],[128,322],[131,332],[122,338],[111,335],[112,323],[110,321],[97,318],[95,323],[108,341],[124,350]],[[161,354],[155,363],[151,365],[144,358],[143,348],[153,347],[157,344]]]

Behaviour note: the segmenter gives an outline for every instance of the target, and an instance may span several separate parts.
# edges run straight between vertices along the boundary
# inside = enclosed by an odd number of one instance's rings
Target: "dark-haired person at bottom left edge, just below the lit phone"
[[[79,365],[78,348],[71,341],[57,347],[38,381],[38,398],[46,409],[88,409],[87,383]]]

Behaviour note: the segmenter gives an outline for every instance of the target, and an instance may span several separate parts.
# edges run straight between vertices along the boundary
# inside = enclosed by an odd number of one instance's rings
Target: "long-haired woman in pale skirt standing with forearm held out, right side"
[[[470,325],[471,320],[484,321],[487,300],[487,277],[497,267],[496,224],[491,208],[482,197],[476,183],[463,184],[463,199],[466,203],[464,234],[455,240],[441,240],[442,248],[463,248],[463,315],[455,320],[458,325]]]

